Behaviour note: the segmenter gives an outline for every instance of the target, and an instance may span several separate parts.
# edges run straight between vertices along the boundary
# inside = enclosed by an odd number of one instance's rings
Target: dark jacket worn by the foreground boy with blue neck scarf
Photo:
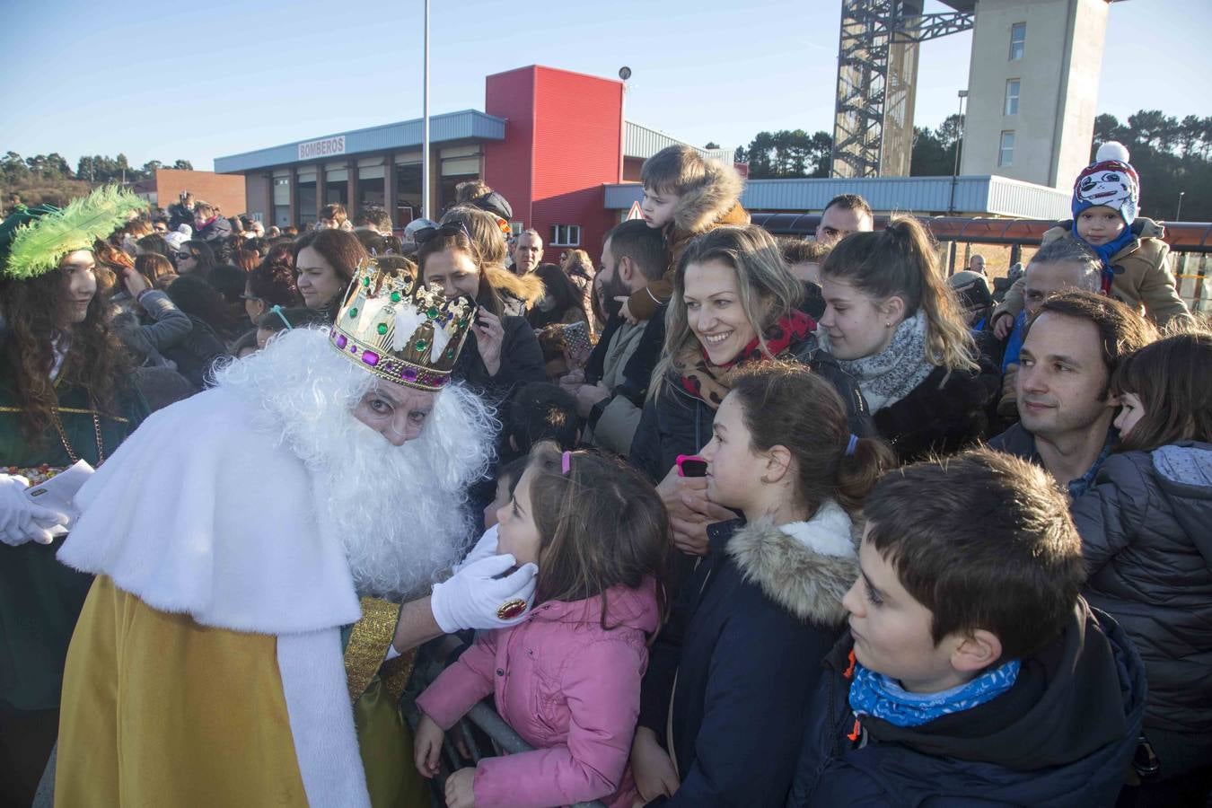
[[[1145,678],[1107,614],[1079,600],[1064,632],[1023,660],[1010,690],[920,727],[871,716],[856,727],[853,644],[846,632],[825,661],[788,806],[1115,804],[1140,732]]]

